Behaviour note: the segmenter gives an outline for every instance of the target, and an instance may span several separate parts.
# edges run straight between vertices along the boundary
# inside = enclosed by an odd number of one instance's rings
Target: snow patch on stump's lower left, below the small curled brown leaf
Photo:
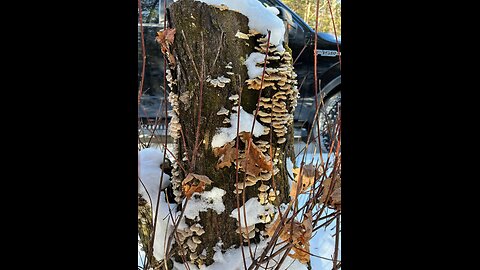
[[[208,209],[213,209],[217,214],[221,214],[225,211],[225,205],[222,201],[222,196],[225,195],[225,193],[225,190],[217,187],[209,191],[204,191],[203,193],[193,193],[190,202],[188,202],[185,208],[185,217],[195,219],[200,212],[206,212]],[[197,199],[196,195],[199,195],[200,198]]]

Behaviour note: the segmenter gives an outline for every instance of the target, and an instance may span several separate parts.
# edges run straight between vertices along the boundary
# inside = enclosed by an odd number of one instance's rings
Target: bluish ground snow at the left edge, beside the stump
[[[152,208],[157,205],[159,191],[170,184],[170,176],[164,173],[162,186],[160,187],[160,177],[162,175],[160,164],[162,163],[163,151],[158,148],[145,148],[138,152],[138,176],[143,183],[143,185],[138,183],[138,192],[148,202],[150,202],[148,197],[148,194],[150,194]]]

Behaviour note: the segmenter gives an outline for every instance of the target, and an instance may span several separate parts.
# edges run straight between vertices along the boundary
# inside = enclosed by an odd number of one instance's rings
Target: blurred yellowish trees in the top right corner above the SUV
[[[318,31],[333,34],[333,23],[328,8],[327,0],[319,0],[320,5],[318,9]],[[282,0],[287,6],[293,9],[300,17],[303,18],[312,28],[315,29],[315,8],[316,0]],[[333,18],[335,20],[335,28],[337,35],[341,35],[341,0],[330,0],[332,6]]]

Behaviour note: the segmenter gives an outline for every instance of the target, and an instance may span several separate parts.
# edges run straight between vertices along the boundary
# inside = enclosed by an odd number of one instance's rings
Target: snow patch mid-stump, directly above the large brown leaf
[[[240,127],[238,133],[242,131],[250,132],[252,129],[252,123],[255,119],[253,114],[247,113],[240,107]],[[238,113],[232,113],[230,115],[231,126],[228,128],[219,128],[217,133],[213,136],[212,147],[221,147],[224,144],[231,142],[237,137],[237,121]],[[259,137],[262,136],[265,127],[255,120],[255,127],[253,129],[253,136]]]

